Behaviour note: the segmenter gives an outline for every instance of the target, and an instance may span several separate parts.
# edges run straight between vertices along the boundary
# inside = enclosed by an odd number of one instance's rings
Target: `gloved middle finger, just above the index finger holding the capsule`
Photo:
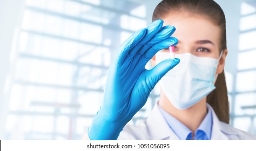
[[[138,51],[139,54],[144,54],[151,46],[161,42],[162,40],[169,38],[176,30],[174,26],[164,26],[152,39],[149,40],[143,47]]]

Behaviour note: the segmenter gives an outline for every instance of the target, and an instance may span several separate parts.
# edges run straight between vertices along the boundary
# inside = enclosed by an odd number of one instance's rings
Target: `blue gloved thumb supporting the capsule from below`
[[[147,73],[147,79],[146,81],[149,81],[149,88],[152,90],[154,86],[158,83],[158,81],[164,77],[164,75],[170,71],[174,66],[179,64],[179,59],[166,59],[164,61],[161,61],[158,65],[153,67],[151,70]]]

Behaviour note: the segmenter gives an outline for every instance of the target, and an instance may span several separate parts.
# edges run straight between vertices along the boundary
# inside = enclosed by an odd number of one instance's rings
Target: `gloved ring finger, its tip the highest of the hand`
[[[154,22],[152,22],[147,28],[146,28],[146,36],[139,42],[138,45],[134,46],[133,50],[130,51],[130,56],[133,57],[139,50],[140,48],[149,42],[149,40],[154,37],[162,28],[164,22],[161,19],[158,19]]]

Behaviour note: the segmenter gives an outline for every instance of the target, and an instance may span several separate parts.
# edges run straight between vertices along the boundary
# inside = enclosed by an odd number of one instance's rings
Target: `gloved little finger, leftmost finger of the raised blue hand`
[[[120,46],[120,51],[117,55],[117,64],[123,63],[129,51],[132,50],[133,47],[136,46],[144,38],[145,35],[146,29],[140,29],[125,40],[125,42]]]

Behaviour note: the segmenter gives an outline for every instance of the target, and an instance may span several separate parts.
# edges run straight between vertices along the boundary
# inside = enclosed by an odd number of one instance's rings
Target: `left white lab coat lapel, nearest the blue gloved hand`
[[[146,125],[150,140],[179,140],[160,113],[157,104],[147,118]]]

